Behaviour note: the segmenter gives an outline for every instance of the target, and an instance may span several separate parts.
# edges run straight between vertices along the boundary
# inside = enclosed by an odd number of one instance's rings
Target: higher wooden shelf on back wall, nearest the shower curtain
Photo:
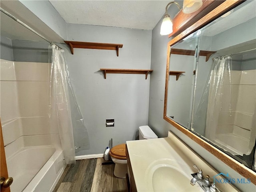
[[[72,55],[74,54],[74,48],[84,49],[106,49],[116,50],[116,54],[119,54],[119,48],[123,47],[123,44],[110,44],[110,43],[91,43],[91,42],[80,42],[80,41],[64,41],[70,46]]]

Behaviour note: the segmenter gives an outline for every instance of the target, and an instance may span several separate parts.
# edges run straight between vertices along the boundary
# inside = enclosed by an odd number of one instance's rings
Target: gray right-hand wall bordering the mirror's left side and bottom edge
[[[182,134],[178,129],[171,126],[163,119],[164,112],[164,87],[165,87],[165,73],[166,73],[166,51],[167,43],[171,39],[167,36],[160,35],[161,20],[152,30],[152,55],[151,55],[151,69],[154,73],[150,76],[150,100],[148,125],[160,137],[166,137],[168,131],[176,134],[185,144],[190,146],[197,154],[212,165],[218,172],[224,172],[232,178],[243,178],[240,174],[232,170],[229,166],[224,164],[221,160],[213,156],[210,152],[202,148],[196,142]],[[207,170],[205,171],[207,172]],[[254,184],[236,184],[236,187],[242,191],[255,191]]]

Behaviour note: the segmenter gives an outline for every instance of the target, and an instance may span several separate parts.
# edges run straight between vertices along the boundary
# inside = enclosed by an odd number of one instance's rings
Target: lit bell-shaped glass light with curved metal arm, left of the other
[[[172,1],[167,4],[167,6],[165,8],[164,19],[163,19],[161,29],[160,29],[161,35],[168,35],[168,34],[172,33],[172,20],[171,20],[170,15],[167,13],[168,6],[172,3],[176,4],[178,6],[178,8],[180,9],[180,5],[177,2]]]

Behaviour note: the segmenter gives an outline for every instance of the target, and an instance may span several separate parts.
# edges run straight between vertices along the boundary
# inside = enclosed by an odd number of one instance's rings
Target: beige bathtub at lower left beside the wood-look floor
[[[49,137],[52,136],[22,136],[14,142],[21,143],[19,150],[14,153],[10,153],[13,143],[6,146],[8,174],[14,179],[10,186],[11,192],[54,190],[66,164],[62,149],[58,145],[49,145],[45,142]],[[31,140],[44,140],[45,143],[34,142],[34,144],[44,145],[30,146]]]

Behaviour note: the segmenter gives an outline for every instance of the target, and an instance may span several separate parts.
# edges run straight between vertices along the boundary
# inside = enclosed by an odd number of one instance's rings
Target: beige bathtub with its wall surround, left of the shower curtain
[[[50,128],[47,118],[49,64],[3,59],[0,63],[2,131],[8,172],[14,178],[10,188],[22,191],[33,179],[30,189],[41,183],[50,190],[65,164],[58,129]],[[49,175],[51,182],[43,178],[47,170],[54,173]]]

